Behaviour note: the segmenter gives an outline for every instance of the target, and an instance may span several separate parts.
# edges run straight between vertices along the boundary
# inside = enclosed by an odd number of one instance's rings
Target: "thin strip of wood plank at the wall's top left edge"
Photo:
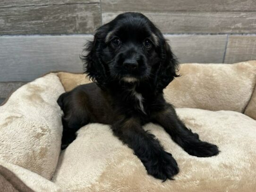
[[[99,3],[100,0],[1,0],[0,8],[17,6],[39,6],[39,5],[63,5],[63,4],[85,4]]]

